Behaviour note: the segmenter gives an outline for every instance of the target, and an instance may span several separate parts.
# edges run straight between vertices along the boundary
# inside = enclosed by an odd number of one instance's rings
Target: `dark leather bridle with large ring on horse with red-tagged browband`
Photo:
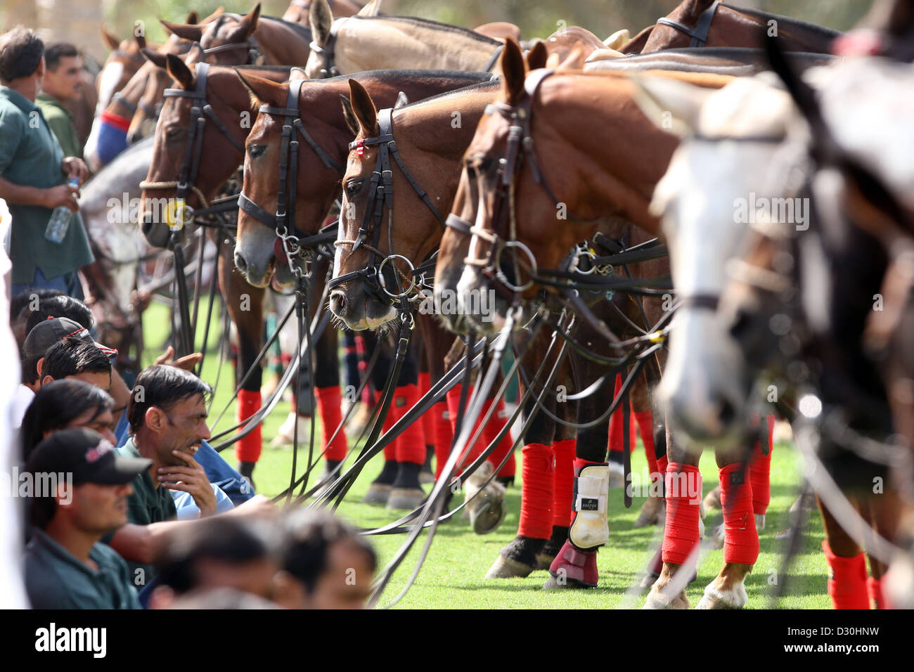
[[[426,207],[430,209],[431,214],[435,216],[435,219],[438,219],[441,223],[441,227],[444,227],[444,218],[441,217],[441,212],[439,212],[438,208],[435,208],[435,204],[431,202],[429,195],[420,187],[419,182],[412,173],[409,172],[409,168],[399,155],[397,141],[394,139],[392,115],[392,108],[377,112],[379,134],[375,137],[356,140],[349,144],[349,151],[356,151],[359,155],[364,151],[364,147],[377,145],[377,159],[375,162],[375,169],[371,173],[365,214],[362,216],[362,224],[358,229],[356,239],[336,240],[334,245],[336,247],[352,245],[353,252],[360,247],[365,247],[369,253],[367,266],[364,269],[344,273],[343,275],[333,278],[327,283],[327,287],[332,290],[350,280],[361,280],[362,283],[366,285],[368,292],[378,301],[384,304],[389,304],[391,301],[398,301],[401,312],[408,312],[409,300],[407,297],[416,287],[416,278],[420,277],[421,273],[430,270],[434,265],[434,260],[425,262],[421,264],[420,267],[416,268],[413,266],[412,261],[403,255],[394,254],[394,186],[393,170],[390,165],[391,156],[393,156],[394,161],[399,165],[400,171],[402,171],[403,175],[407,178],[407,181],[409,181],[409,186],[413,188],[416,195],[420,197]],[[384,254],[384,252],[378,250],[385,208],[388,210],[388,254]],[[371,237],[370,243],[367,242],[369,235]],[[395,259],[406,261],[409,264],[409,277],[396,269],[394,266]],[[390,263],[391,271],[386,275],[385,266],[388,262]],[[406,289],[404,289],[400,283],[401,278],[409,282],[409,286]]]

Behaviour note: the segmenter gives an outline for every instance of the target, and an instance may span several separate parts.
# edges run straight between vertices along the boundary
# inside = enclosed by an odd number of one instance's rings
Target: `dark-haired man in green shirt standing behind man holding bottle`
[[[69,42],[52,42],[45,47],[45,76],[35,102],[60,143],[64,156],[82,156],[73,118],[65,107],[80,95],[82,59]]]

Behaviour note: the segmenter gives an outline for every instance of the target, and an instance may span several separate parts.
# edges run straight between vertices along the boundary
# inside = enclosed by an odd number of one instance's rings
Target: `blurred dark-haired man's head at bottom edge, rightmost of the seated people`
[[[367,540],[324,509],[283,521],[282,569],[275,600],[289,609],[363,609],[377,569]]]

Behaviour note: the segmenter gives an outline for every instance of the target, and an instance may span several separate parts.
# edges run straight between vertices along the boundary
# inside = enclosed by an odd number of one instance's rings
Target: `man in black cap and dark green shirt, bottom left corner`
[[[34,536],[26,547],[28,599],[35,609],[139,609],[126,563],[101,538],[127,522],[131,481],[151,460],[124,457],[98,432],[63,430],[38,443],[27,463],[38,485]],[[39,477],[43,475],[43,477]]]

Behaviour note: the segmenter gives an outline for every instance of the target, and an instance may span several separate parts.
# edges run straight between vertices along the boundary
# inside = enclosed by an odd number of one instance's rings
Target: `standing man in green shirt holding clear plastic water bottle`
[[[89,168],[77,156],[66,156],[35,104],[45,67],[44,45],[23,27],[0,36],[0,198],[13,219],[10,259],[12,295],[32,288],[58,289],[82,298],[77,269],[93,261],[79,215],[79,187]],[[76,213],[60,242],[45,238],[54,208]]]

